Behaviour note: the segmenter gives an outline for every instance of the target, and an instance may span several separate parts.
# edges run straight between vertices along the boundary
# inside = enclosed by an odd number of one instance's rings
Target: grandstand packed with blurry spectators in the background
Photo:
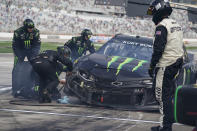
[[[94,34],[149,37],[154,34],[151,18],[127,17],[124,7],[94,3],[94,0],[2,0],[0,32],[13,32],[25,18],[31,18],[42,34],[77,35],[84,28]],[[184,38],[197,38],[194,30],[197,24],[189,22],[186,10],[174,9],[172,18],[183,27]]]

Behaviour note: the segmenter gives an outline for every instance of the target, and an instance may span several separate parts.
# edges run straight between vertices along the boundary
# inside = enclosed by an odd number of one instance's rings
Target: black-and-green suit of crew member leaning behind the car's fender
[[[72,37],[72,39],[66,42],[65,45],[67,45],[71,49],[72,61],[76,60],[82,55],[86,55],[87,51],[89,51],[90,53],[95,52],[92,41],[85,40],[82,36]]]

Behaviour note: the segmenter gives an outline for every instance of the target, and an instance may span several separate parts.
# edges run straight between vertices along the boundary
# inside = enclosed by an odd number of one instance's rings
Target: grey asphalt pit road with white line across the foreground
[[[13,55],[0,54],[0,131],[150,131],[158,112],[124,111],[86,105],[10,104]],[[174,124],[173,131],[193,127]]]

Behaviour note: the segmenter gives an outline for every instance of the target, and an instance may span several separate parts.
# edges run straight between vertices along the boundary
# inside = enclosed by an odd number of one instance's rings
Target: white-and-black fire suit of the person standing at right
[[[172,101],[175,78],[183,64],[182,56],[182,29],[175,21],[165,18],[156,27],[149,69],[150,76],[153,76],[154,72],[153,88],[162,114],[160,127],[164,130],[171,131],[174,122]]]

